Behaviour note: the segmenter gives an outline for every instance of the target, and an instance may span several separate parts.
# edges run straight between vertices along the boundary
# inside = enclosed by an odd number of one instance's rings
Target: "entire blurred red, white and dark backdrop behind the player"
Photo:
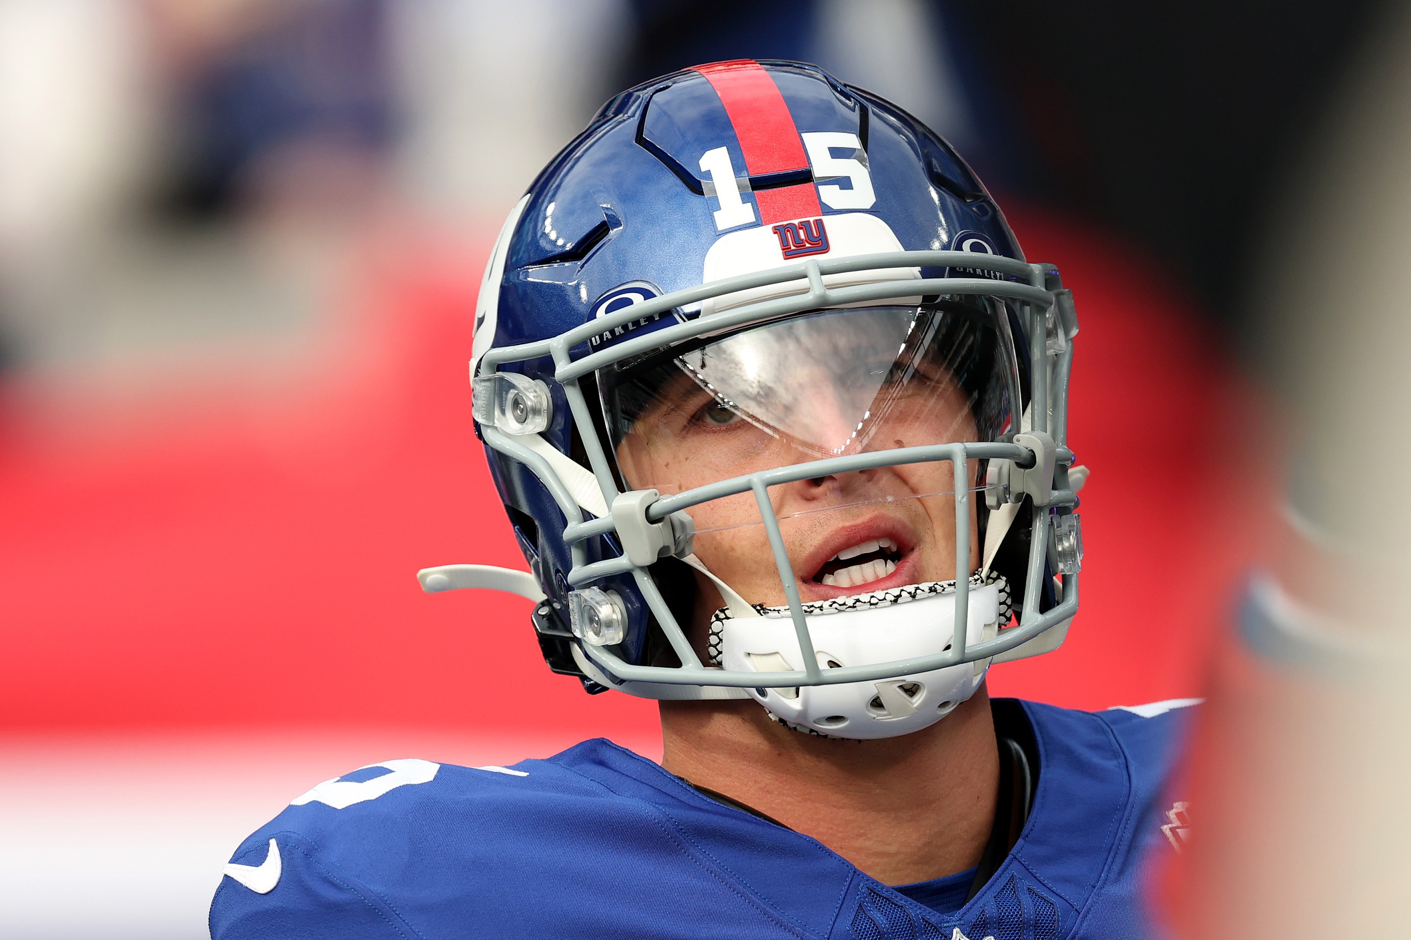
[[[1247,271],[1379,13],[0,0],[0,936],[206,936],[237,841],[371,761],[659,754],[525,603],[412,575],[522,564],[464,373],[504,213],[696,62],[892,97],[1075,289],[1084,613],[992,693],[1199,695],[1280,474]]]

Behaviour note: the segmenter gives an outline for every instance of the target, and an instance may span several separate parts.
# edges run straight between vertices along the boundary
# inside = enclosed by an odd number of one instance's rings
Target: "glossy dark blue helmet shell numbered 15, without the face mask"
[[[811,134],[856,138],[854,156],[866,166],[871,199],[854,180],[828,176],[820,156],[835,151],[811,147],[820,140]],[[738,207],[720,213],[725,206],[715,194],[717,176],[703,169],[703,158],[720,148],[741,180],[748,218]],[[718,155],[714,159],[720,166]],[[477,355],[579,327],[624,287],[652,296],[697,286],[707,272],[707,252],[724,235],[804,216],[827,223],[865,213],[885,223],[896,249],[981,251],[1023,261],[999,207],[945,141],[895,104],[799,62],[697,66],[618,94],[549,162],[515,211],[497,247],[502,275],[494,283],[492,262],[483,287],[498,296],[481,297]],[[1015,317],[1012,328],[1016,344],[1024,342]],[[587,350],[584,344],[581,352]],[[586,464],[553,364],[543,358],[507,371],[547,383],[553,417],[543,437]],[[1023,357],[1020,372],[1027,399]],[[598,433],[601,438],[601,427]],[[487,457],[519,547],[547,595],[535,614],[545,657],[555,671],[581,675],[569,641],[552,636],[567,621],[571,562],[562,538],[563,513],[525,465],[490,448]],[[610,540],[590,541],[590,561],[619,554]],[[659,564],[653,576],[672,576],[670,565],[676,562]],[[663,569],[660,576],[656,568]],[[663,595],[682,603],[691,582],[676,576],[662,585]],[[634,581],[624,575],[598,586],[617,590],[626,606],[624,658],[648,661],[652,616]],[[584,684],[600,688],[586,678]]]

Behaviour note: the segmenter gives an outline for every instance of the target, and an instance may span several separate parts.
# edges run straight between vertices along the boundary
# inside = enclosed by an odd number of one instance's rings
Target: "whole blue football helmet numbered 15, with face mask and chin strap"
[[[539,173],[480,290],[476,431],[529,572],[422,586],[533,599],[590,692],[927,727],[1077,613],[1077,333],[896,106],[797,62],[641,85]]]

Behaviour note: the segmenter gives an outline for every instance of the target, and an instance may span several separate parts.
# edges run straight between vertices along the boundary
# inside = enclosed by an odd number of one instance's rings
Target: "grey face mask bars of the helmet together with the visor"
[[[954,502],[957,520],[967,523],[958,523],[955,533],[957,607],[962,613],[955,624],[955,643],[947,645],[944,653],[928,657],[923,665],[938,668],[1005,655],[1072,617],[1077,610],[1075,576],[1065,579],[1064,599],[1055,607],[1040,614],[1026,600],[1017,626],[1003,630],[999,637],[972,643],[967,650],[964,595],[971,572],[968,503],[969,493],[983,489],[981,481],[985,479],[982,472],[976,472],[978,466],[986,461],[1010,464],[1015,469],[1006,478],[1010,486],[1006,495],[1022,497],[1029,493],[1040,506],[1075,503],[1071,492],[1053,492],[1054,476],[1030,479],[1040,476],[1034,471],[1043,468],[1050,468],[1051,474],[1055,459],[1060,469],[1071,462],[1071,454],[1061,447],[1061,399],[1055,402],[1060,407],[1054,413],[1048,407],[1047,386],[1053,382],[1040,382],[1033,390],[1033,412],[1047,419],[1046,427],[1016,428],[1012,420],[1019,410],[1019,371],[1007,354],[1012,340],[1006,304],[1013,306],[1030,335],[1037,334],[1037,341],[1017,351],[1022,357],[1029,354],[1027,372],[1058,375],[1060,388],[1055,392],[1062,396],[1065,390],[1070,357],[1061,352],[1067,344],[1058,344],[1058,361],[1050,362],[1055,347],[1050,334],[1057,323],[1058,330],[1071,337],[1075,326],[1065,326],[1071,316],[1054,316],[1062,293],[1057,275],[1046,266],[993,256],[986,258],[985,266],[1002,273],[1005,280],[916,279],[917,269],[923,266],[934,269],[964,262],[974,269],[975,261],[975,255],[961,252],[893,252],[810,261],[703,285],[612,314],[625,323],[762,285],[807,279],[809,287],[807,292],[724,309],[708,319],[676,323],[646,335],[628,335],[615,348],[590,351],[579,359],[573,359],[569,350],[615,324],[598,320],[550,341],[492,350],[485,355],[476,381],[477,397],[481,388],[497,379],[499,365],[552,357],[553,378],[563,386],[573,420],[584,438],[591,471],[569,461],[538,434],[516,435],[512,428],[507,433],[498,424],[481,423],[485,443],[526,464],[545,481],[569,519],[564,541],[573,550],[574,567],[567,581],[579,596],[573,610],[577,614],[583,607],[584,614],[576,620],[584,624],[607,623],[608,627],[625,621],[621,605],[614,605],[612,592],[595,588],[594,582],[629,575],[683,665],[625,662],[614,650],[621,630],[601,627],[576,630],[583,641],[580,651],[584,655],[576,653],[580,664],[594,667],[593,674],[615,685],[642,686],[639,693],[643,695],[652,695],[646,691],[648,685],[658,689],[725,686],[720,689],[722,692],[734,686],[761,685],[758,674],[722,672],[700,664],[646,567],[669,555],[691,564],[693,536],[704,537],[741,524],[763,526],[799,630],[799,645],[809,650],[807,624],[780,530],[780,524],[792,516],[779,517],[770,500],[770,488],[899,465],[948,462],[952,469],[950,485],[931,490],[916,490],[913,486],[873,492],[865,499],[842,488],[828,495],[827,505],[807,512],[835,510],[868,500],[945,497]],[[897,279],[831,289],[824,286],[824,275],[886,268],[897,269]],[[937,299],[912,306],[920,293]],[[1053,365],[1058,369],[1051,369]],[[595,428],[597,421],[579,385],[579,379],[590,373],[595,373],[601,392],[605,441]],[[1023,433],[1016,435],[1016,431]],[[1058,438],[1057,445],[1051,437]],[[933,475],[933,479],[943,476]],[[632,489],[619,492],[622,483]],[[594,489],[598,492],[591,492]],[[663,492],[667,495],[662,496]],[[696,512],[704,521],[708,514],[704,507],[713,502],[731,503],[739,512],[734,519],[729,513],[717,514],[711,526],[693,531],[696,527],[689,510],[701,507]],[[751,506],[752,517],[746,519],[744,509]],[[586,519],[580,512],[584,509],[595,519]],[[1048,514],[1034,513],[1033,534],[1038,537],[1031,541],[1030,582],[1037,576],[1034,571],[1040,575],[1044,571]],[[622,545],[622,557],[587,562],[583,543],[610,533]],[[729,602],[728,593],[722,593]],[[735,600],[742,602],[738,595]],[[1019,655],[1030,653],[1020,651]],[[869,681],[917,667],[913,660],[830,669],[824,675],[811,667],[807,654],[803,660],[804,669],[779,672],[763,684],[797,686]]]

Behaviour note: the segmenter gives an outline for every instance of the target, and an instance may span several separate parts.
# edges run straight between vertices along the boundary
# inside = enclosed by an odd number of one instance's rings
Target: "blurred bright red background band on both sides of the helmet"
[[[1071,443],[1092,476],[1082,612],[1057,654],[996,668],[992,693],[1088,709],[1198,695],[1252,547],[1250,396],[1147,259],[1062,218],[1012,221],[1075,292]],[[349,335],[258,396],[230,390],[231,365],[157,386],[133,417],[71,390],[44,421],[11,420],[0,726],[650,736],[650,702],[547,672],[525,602],[426,596],[413,578],[523,567],[470,421],[487,247],[370,240],[332,300]],[[11,413],[42,396],[11,388]]]

